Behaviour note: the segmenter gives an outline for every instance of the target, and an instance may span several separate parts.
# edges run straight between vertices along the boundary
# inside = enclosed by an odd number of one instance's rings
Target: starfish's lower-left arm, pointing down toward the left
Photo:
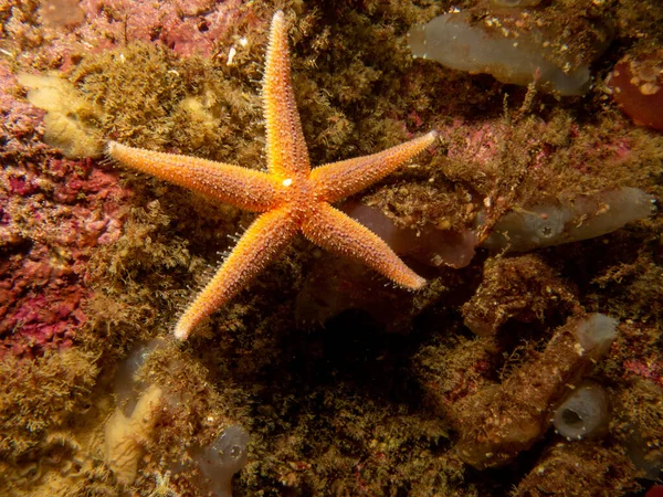
[[[261,214],[180,316],[175,326],[176,338],[186,340],[196,325],[236,295],[281,253],[296,233],[297,225],[287,208]]]

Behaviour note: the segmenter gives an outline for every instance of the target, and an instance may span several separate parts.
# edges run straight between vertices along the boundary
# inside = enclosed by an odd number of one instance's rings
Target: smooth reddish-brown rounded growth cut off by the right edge
[[[663,131],[663,50],[624,56],[606,84],[633,123]]]

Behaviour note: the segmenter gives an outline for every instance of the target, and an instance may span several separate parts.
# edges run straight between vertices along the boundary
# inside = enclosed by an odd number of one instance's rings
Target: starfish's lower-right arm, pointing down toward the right
[[[302,231],[313,243],[356,258],[400,286],[419,289],[425,284],[382,239],[326,202],[318,202]]]

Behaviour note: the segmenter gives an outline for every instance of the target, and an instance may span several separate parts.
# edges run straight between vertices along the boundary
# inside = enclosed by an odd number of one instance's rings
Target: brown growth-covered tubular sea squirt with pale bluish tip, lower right
[[[602,314],[573,317],[541,352],[502,384],[480,390],[456,409],[460,457],[476,469],[511,463],[548,430],[551,411],[581,381],[617,337],[617,320]]]

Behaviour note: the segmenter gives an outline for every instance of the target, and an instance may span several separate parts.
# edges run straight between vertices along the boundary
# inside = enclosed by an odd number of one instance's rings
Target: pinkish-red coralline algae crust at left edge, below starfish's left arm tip
[[[128,192],[90,160],[51,159],[0,173],[0,355],[70,345],[85,320],[87,261],[119,237]]]

